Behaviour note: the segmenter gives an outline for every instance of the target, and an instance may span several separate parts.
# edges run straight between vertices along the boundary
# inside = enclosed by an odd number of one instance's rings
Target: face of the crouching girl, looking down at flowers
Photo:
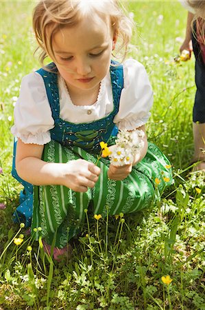
[[[115,43],[110,22],[100,17],[83,19],[54,35],[55,63],[69,91],[76,94],[99,88],[109,70]]]

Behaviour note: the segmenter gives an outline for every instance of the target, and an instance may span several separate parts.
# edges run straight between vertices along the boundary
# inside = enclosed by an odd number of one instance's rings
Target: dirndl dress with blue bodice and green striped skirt
[[[107,212],[110,215],[120,212],[130,214],[149,208],[154,200],[158,200],[160,194],[171,185],[173,179],[169,160],[153,143],[148,143],[145,158],[132,168],[132,172],[124,180],[108,178],[107,172],[110,165],[108,158],[97,160],[100,152],[99,143],[104,141],[108,146],[112,145],[114,136],[117,134],[113,119],[119,110],[119,99],[123,89],[122,65],[110,65],[114,103],[112,112],[97,121],[77,124],[60,118],[58,72],[55,71],[53,63],[49,65],[49,69],[49,72],[43,68],[37,71],[43,77],[55,122],[53,129],[50,130],[51,141],[44,147],[43,161],[67,163],[83,158],[95,163],[101,169],[95,187],[88,188],[87,192],[74,192],[62,185],[33,187],[32,231],[41,227],[40,231],[37,229],[36,239],[40,234],[51,245],[55,238],[55,246],[62,248],[82,229],[86,218],[85,209],[105,217]],[[29,198],[31,199],[31,196]],[[25,201],[26,199],[24,203]],[[15,220],[21,216],[21,206],[19,206],[15,213]],[[28,223],[27,214],[23,216]]]

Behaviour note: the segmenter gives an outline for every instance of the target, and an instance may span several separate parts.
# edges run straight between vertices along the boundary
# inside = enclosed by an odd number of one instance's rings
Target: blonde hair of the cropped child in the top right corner
[[[205,44],[205,0],[186,0],[191,8],[195,10],[192,22],[193,34],[197,41]],[[195,23],[195,28],[193,27]]]

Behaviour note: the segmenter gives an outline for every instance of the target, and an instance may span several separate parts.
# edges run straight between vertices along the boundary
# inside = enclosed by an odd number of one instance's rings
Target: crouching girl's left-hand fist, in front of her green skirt
[[[75,192],[86,192],[88,187],[93,188],[100,174],[99,167],[84,159],[69,161],[64,164],[62,185]]]

